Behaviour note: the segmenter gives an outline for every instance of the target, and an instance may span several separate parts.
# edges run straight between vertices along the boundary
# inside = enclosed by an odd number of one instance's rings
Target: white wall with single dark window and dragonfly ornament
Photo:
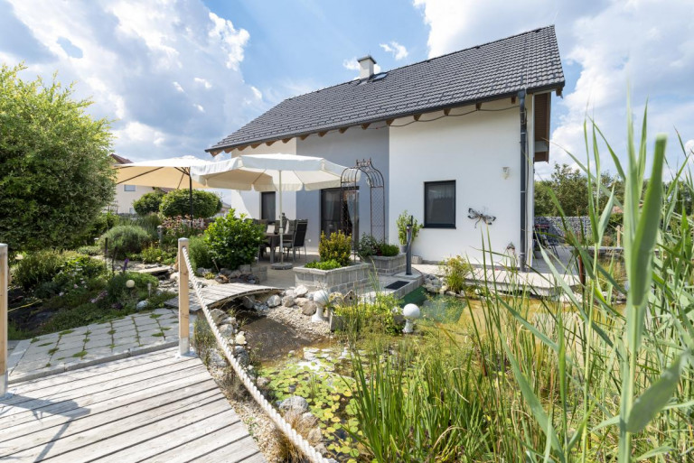
[[[511,243],[520,248],[521,124],[518,103],[512,105],[510,99],[504,99],[485,103],[483,109],[498,111],[478,111],[466,116],[396,126],[411,121],[412,118],[408,117],[390,126],[390,236],[397,236],[395,218],[404,209],[408,209],[420,223],[424,221],[426,181],[455,180],[455,229],[421,229],[413,251],[425,260],[439,261],[452,255],[464,255],[471,262],[480,263],[483,247],[491,245],[492,251],[499,253],[503,253]],[[456,108],[450,114],[460,115],[471,110],[474,106]],[[425,115],[420,121],[442,114]],[[531,115],[530,104],[530,121]],[[503,178],[504,167],[511,168],[508,179]],[[532,178],[530,172],[529,178]],[[467,217],[468,208],[492,215],[496,220],[491,226],[477,223],[475,227],[475,220]]]

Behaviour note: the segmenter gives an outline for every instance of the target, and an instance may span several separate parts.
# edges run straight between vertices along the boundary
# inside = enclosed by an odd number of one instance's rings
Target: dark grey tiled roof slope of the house
[[[563,87],[557,37],[548,26],[288,98],[205,151]]]

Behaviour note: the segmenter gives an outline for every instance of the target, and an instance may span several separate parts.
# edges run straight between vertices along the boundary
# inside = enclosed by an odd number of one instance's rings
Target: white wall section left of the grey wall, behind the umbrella
[[[243,151],[238,149],[232,150],[230,153],[225,153],[224,159],[237,157],[241,154],[272,154],[285,153],[296,154],[296,139],[292,138],[287,143],[282,141],[275,142],[270,146],[261,144],[257,148],[248,147]],[[217,156],[219,159],[219,156]],[[237,215],[246,214],[251,218],[260,217],[260,193],[255,190],[239,191],[239,190],[223,190],[224,202],[229,204],[231,208],[236,210]],[[285,191],[282,193],[282,207],[287,218],[295,218],[296,216],[296,193],[294,191]],[[279,198],[276,203],[277,214],[279,213]]]

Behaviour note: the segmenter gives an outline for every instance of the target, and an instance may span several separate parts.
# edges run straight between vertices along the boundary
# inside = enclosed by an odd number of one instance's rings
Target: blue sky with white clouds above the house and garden
[[[550,163],[586,159],[596,120],[624,161],[627,94],[649,140],[694,139],[694,0],[0,0],[0,62],[75,82],[131,160],[204,149],[286,97],[555,24],[566,77]],[[652,145],[652,143],[651,143]],[[689,146],[694,145],[690,143]],[[566,151],[565,151],[566,150]],[[614,164],[605,158],[605,169]]]

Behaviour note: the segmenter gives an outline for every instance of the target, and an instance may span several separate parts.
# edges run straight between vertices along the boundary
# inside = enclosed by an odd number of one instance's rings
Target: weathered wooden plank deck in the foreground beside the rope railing
[[[0,460],[265,462],[200,359],[175,352],[14,384]]]

